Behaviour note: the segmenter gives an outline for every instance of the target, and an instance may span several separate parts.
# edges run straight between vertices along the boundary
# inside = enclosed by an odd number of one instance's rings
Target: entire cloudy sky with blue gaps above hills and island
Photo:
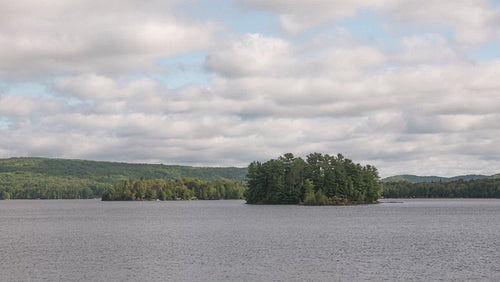
[[[0,158],[500,173],[500,1],[0,2]]]

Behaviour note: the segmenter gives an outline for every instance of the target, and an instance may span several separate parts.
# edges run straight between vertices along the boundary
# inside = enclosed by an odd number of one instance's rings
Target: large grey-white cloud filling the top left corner
[[[173,14],[175,1],[0,4],[0,75],[159,71],[155,59],[206,48],[215,26]]]

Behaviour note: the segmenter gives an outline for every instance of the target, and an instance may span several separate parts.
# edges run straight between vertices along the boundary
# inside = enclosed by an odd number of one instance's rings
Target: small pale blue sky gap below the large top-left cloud
[[[207,53],[191,52],[158,59],[156,64],[165,69],[154,77],[168,89],[187,85],[210,85],[210,74],[204,68]]]

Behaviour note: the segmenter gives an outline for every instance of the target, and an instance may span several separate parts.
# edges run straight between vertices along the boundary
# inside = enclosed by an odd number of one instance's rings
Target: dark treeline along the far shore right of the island
[[[385,198],[500,198],[500,179],[384,183]]]

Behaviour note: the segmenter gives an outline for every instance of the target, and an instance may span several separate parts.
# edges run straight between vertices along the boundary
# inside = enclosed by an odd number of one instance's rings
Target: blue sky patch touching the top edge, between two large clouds
[[[259,33],[277,36],[279,18],[267,11],[245,9],[228,0],[186,1],[177,10],[200,21],[221,25],[234,33]]]

